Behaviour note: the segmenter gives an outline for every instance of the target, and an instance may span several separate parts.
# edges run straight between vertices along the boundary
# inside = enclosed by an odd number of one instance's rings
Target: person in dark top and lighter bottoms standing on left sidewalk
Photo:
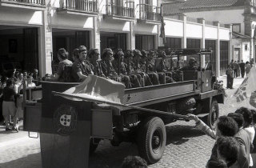
[[[6,87],[2,90],[3,102],[2,102],[2,115],[6,122],[6,131],[11,130],[9,126],[10,116],[14,117],[14,126],[12,130],[18,132],[17,125],[17,108],[15,106],[14,97],[18,97],[18,94],[14,90],[14,80],[8,79],[6,81]]]

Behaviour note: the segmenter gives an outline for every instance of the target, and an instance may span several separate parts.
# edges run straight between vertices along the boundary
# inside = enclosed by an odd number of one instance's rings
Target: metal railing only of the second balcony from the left
[[[98,12],[97,0],[62,0],[60,1],[60,8],[93,13]]]

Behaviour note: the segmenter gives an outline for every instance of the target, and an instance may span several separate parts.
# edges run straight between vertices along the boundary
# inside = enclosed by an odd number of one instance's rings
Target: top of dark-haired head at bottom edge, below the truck
[[[139,156],[127,156],[122,162],[122,168],[147,168],[147,163]]]

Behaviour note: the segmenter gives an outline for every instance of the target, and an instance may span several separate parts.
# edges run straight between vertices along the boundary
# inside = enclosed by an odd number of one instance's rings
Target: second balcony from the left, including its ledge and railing
[[[58,13],[91,16],[98,14],[97,0],[61,0],[59,5]]]

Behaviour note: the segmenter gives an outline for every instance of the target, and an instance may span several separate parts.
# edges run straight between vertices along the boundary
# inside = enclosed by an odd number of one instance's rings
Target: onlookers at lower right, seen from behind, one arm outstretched
[[[214,130],[194,114],[187,114],[187,117],[196,122],[199,130],[216,140],[206,167],[248,168],[254,165],[250,153],[255,145],[255,110],[241,107],[234,113],[221,116]]]

